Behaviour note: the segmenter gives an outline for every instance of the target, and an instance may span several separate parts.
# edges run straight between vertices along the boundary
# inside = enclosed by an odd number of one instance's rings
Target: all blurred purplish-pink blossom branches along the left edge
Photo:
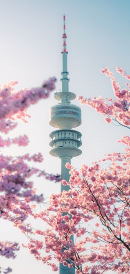
[[[26,121],[29,115],[26,112],[30,104],[36,103],[41,98],[48,98],[50,92],[54,89],[55,78],[49,78],[41,87],[26,88],[19,91],[14,90],[16,81],[9,82],[0,86],[0,131],[8,133],[16,127],[16,118]],[[17,144],[25,146],[28,144],[28,138],[23,136],[3,139],[0,136],[0,147]],[[33,189],[33,182],[30,177],[33,174],[43,176],[48,180],[59,181],[58,175],[46,173],[29,166],[27,162],[41,162],[43,160],[41,153],[22,156],[0,155],[0,217],[13,221],[15,226],[23,227],[29,213],[31,213],[30,201],[40,202],[43,195],[37,195]],[[29,179],[29,180],[28,180]],[[29,229],[26,228],[26,231]],[[0,255],[7,258],[15,257],[15,251],[19,249],[18,243],[0,242]],[[8,273],[10,267],[0,268],[0,272]]]

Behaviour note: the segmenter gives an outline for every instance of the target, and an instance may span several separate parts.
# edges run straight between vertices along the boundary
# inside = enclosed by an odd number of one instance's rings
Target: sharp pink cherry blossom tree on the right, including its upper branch
[[[122,69],[117,68],[117,71],[130,78]],[[102,72],[111,77],[116,98],[85,99],[80,96],[79,100],[105,115],[107,122],[115,120],[122,127],[128,127],[128,89],[120,90],[107,68]],[[118,142],[129,146],[130,138],[123,136]],[[62,184],[68,185],[69,190],[51,194],[46,210],[31,213],[34,218],[46,222],[48,228],[45,231],[32,229],[27,247],[36,259],[50,265],[53,271],[58,270],[54,258],[63,265],[74,267],[77,274],[98,274],[107,270],[128,273],[129,148],[126,147],[124,153],[106,154],[89,167],[82,164],[80,170],[69,163],[66,167],[70,169],[70,179],[69,182],[62,180]],[[74,242],[72,235],[75,235]]]

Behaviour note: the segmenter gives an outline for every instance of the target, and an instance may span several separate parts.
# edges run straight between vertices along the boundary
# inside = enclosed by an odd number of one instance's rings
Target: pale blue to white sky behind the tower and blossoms
[[[112,96],[110,81],[100,74],[108,66],[123,87],[124,80],[116,73],[120,66],[129,72],[129,0],[0,0],[0,83],[18,80],[18,88],[38,86],[49,76],[56,76],[60,88],[62,15],[66,14],[69,90],[86,97]],[[79,104],[76,99],[73,101]],[[28,124],[19,122],[10,136],[26,133],[28,147],[5,149],[13,155],[41,151],[48,172],[60,172],[60,161],[49,155],[48,110],[57,101],[53,94],[29,108]],[[82,154],[72,164],[90,164],[105,153],[119,151],[123,145],[115,143],[127,129],[107,125],[93,109],[81,106]],[[59,190],[59,185],[40,180],[35,183],[44,196]],[[1,239],[24,241],[20,232],[6,221],[1,221]],[[7,231],[7,235],[5,233]],[[13,274],[52,273],[50,267],[33,259],[26,249],[17,253],[15,260],[0,263],[10,265]],[[25,270],[26,264],[26,270]]]

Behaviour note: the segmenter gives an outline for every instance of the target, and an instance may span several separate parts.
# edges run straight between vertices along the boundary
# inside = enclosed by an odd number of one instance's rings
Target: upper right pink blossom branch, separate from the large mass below
[[[128,75],[122,68],[116,67],[116,70],[120,75],[122,75],[127,80],[130,79],[130,75]],[[110,123],[111,121],[116,121],[117,124],[129,128],[130,84],[126,82],[127,88],[125,87],[123,89],[120,89],[120,85],[115,81],[115,77],[107,67],[102,68],[101,73],[105,73],[106,76],[110,77],[115,98],[102,98],[101,96],[99,96],[98,98],[93,97],[87,99],[83,96],[79,96],[78,100],[82,104],[88,104],[101,115],[105,116],[104,119],[107,123]]]

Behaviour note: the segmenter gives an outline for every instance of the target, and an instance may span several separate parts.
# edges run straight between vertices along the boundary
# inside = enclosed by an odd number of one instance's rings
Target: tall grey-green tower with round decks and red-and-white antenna
[[[81,124],[80,107],[72,104],[71,100],[76,95],[68,89],[68,71],[67,71],[67,49],[66,49],[66,33],[65,33],[65,15],[63,15],[63,48],[62,54],[62,77],[61,91],[54,94],[54,98],[58,100],[58,104],[52,106],[49,110],[49,124],[56,128],[52,131],[49,145],[52,147],[50,154],[61,159],[61,178],[69,181],[69,169],[65,167],[66,162],[71,162],[71,158],[81,154],[79,149],[81,145],[81,133],[73,130]],[[61,184],[61,192],[68,191],[68,185]],[[75,269],[63,266],[60,263],[60,274],[74,274]]]

